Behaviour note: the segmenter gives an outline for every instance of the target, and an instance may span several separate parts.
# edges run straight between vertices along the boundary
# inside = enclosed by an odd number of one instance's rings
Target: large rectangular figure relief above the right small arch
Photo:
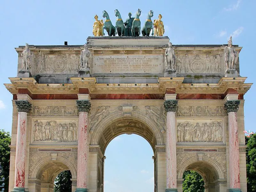
[[[223,142],[222,121],[177,121],[178,142]]]

